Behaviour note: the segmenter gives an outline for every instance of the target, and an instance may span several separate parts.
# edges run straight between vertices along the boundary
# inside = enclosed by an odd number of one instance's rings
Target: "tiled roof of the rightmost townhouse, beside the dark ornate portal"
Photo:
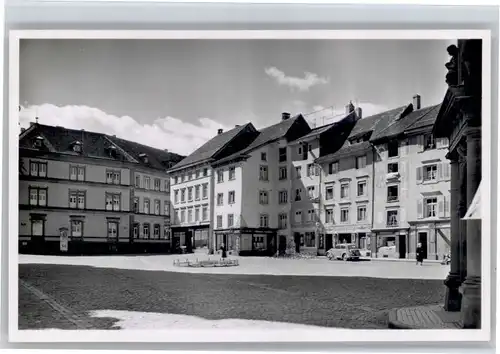
[[[383,127],[383,129],[374,132],[370,141],[388,139],[403,134],[408,128],[410,128],[414,124],[417,124],[417,122],[419,122],[424,117],[427,117],[427,121],[435,121],[438,111],[439,105],[429,106],[410,112],[401,119],[393,119],[392,121],[389,120],[387,122],[388,124],[384,124],[385,127]]]

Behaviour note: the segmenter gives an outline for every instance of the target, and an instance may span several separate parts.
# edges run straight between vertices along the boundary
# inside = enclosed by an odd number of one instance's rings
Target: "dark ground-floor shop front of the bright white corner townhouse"
[[[283,240],[284,237],[284,240]],[[240,228],[215,230],[211,247],[219,252],[222,244],[229,255],[273,256],[278,250],[278,242],[285,242],[277,230],[268,228]]]

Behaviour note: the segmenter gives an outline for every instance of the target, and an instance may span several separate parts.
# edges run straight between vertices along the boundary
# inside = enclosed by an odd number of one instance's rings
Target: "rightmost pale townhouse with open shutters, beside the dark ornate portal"
[[[429,259],[449,250],[450,165],[446,139],[431,130],[439,106],[413,104],[392,111],[372,135],[374,146],[374,220],[372,243],[396,246],[395,257],[414,258],[417,243]],[[375,242],[373,242],[375,241]]]

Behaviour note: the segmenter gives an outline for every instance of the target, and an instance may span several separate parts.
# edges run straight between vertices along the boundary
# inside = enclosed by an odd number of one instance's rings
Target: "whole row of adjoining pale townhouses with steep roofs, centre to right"
[[[346,106],[311,129],[302,115],[258,131],[218,134],[169,170],[174,242],[189,249],[325,254],[355,243],[373,256],[428,258],[449,247],[447,141],[431,134],[438,106],[412,103],[372,117]]]

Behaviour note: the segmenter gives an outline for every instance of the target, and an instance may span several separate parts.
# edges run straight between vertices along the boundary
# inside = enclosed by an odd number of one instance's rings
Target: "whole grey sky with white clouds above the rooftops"
[[[218,128],[367,117],[446,90],[445,41],[22,40],[21,126],[86,129],[189,154]],[[333,118],[328,118],[333,116]],[[323,118],[327,117],[327,118]]]

